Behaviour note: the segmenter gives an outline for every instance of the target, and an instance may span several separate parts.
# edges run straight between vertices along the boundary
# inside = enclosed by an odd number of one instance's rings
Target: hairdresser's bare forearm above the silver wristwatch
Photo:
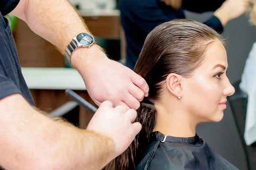
[[[62,54],[76,34],[89,33],[86,24],[67,0],[20,0],[12,12]]]

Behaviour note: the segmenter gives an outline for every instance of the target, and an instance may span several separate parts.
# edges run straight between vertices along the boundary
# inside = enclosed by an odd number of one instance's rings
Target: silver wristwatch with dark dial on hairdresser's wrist
[[[77,34],[76,37],[74,37],[72,41],[67,45],[65,55],[70,61],[71,55],[76,50],[76,48],[90,48],[95,43],[95,39],[92,35],[87,33]]]

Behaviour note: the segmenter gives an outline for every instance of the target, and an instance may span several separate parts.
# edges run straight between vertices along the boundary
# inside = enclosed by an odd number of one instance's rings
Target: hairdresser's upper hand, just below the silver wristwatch
[[[119,62],[108,59],[99,49],[90,49],[90,53],[88,50],[80,59],[71,57],[71,62],[76,64],[75,68],[83,77],[87,91],[96,105],[109,100],[114,106],[125,105],[137,109],[144,96],[148,96],[148,85],[142,77]]]

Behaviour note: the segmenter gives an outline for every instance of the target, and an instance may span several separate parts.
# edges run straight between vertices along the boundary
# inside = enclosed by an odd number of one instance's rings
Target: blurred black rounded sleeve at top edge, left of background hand
[[[225,0],[182,0],[182,8],[188,11],[203,13],[216,11]]]

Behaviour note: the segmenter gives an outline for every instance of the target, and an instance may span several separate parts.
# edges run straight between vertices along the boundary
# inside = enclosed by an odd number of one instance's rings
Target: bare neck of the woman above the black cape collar
[[[192,137],[195,136],[195,127],[198,124],[189,114],[177,109],[157,107],[157,122],[154,131],[166,136]]]

